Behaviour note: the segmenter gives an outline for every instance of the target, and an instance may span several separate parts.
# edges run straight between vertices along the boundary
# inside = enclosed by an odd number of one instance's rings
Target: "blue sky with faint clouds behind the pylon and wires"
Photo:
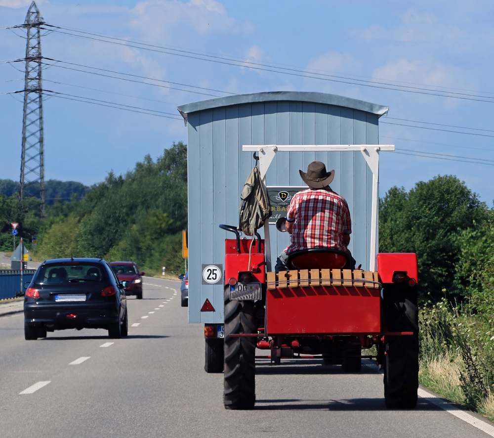
[[[0,27],[23,23],[29,4],[27,0],[0,0]],[[388,118],[380,119],[380,143],[396,144],[398,152],[412,155],[381,155],[381,195],[393,185],[410,189],[419,180],[451,174],[493,205],[494,168],[489,164],[494,161],[487,160],[494,160],[494,132],[421,125],[487,136],[466,135],[384,123],[407,124],[389,119],[399,118],[494,131],[494,103],[490,102],[494,97],[490,55],[494,5],[489,1],[82,0],[37,4],[45,21],[60,27],[354,80],[463,93],[467,99],[293,77],[55,32],[42,39],[42,52],[48,58],[106,70],[231,93],[322,91],[387,105]],[[23,31],[15,32],[22,35]],[[0,60],[20,58],[24,51],[23,38],[0,30]],[[43,71],[45,89],[173,114],[179,104],[209,97],[59,66]],[[17,68],[22,70],[21,65]],[[0,93],[22,89],[18,80],[22,77],[11,65],[0,64]],[[469,100],[471,96],[465,94],[484,97]],[[15,98],[0,94],[0,178],[17,180],[22,103]],[[46,179],[90,185],[111,170],[125,173],[146,154],[159,156],[173,141],[186,141],[181,120],[57,97],[45,101],[44,120]],[[443,158],[438,160],[410,151],[445,155],[437,155]],[[466,163],[462,157],[477,158],[483,164]]]

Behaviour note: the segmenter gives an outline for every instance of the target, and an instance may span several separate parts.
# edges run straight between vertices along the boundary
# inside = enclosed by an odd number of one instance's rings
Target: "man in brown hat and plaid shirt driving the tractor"
[[[329,187],[334,170],[327,172],[324,163],[314,161],[309,164],[307,173],[299,172],[309,188],[296,193],[288,207],[287,218],[278,219],[277,228],[280,231],[286,228],[291,239],[290,245],[278,256],[275,272],[289,270],[290,255],[311,249],[342,253],[346,258],[345,267],[355,269],[355,260],[348,250],[352,232],[348,204]]]

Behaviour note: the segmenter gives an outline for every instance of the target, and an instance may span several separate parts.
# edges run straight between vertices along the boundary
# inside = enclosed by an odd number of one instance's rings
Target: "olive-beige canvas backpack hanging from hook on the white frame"
[[[271,204],[257,166],[248,175],[240,197],[242,202],[238,229],[247,236],[253,236],[271,216]]]

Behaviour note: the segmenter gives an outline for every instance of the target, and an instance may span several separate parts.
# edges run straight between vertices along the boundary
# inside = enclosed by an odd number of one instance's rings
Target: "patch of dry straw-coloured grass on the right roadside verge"
[[[465,399],[459,380],[461,366],[459,356],[426,356],[420,360],[419,382],[431,391],[461,404]]]

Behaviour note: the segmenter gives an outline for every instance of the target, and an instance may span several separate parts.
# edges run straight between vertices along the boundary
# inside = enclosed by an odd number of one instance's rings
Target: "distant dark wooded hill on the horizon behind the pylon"
[[[70,201],[73,193],[79,198],[83,198],[89,187],[81,182],[76,181],[58,181],[49,179],[44,182],[44,199],[46,204],[53,205],[55,198],[59,197],[62,201]],[[0,179],[0,193],[5,196],[13,196],[19,193],[19,182],[11,179]],[[39,185],[31,185],[27,187],[25,196],[40,197]]]

